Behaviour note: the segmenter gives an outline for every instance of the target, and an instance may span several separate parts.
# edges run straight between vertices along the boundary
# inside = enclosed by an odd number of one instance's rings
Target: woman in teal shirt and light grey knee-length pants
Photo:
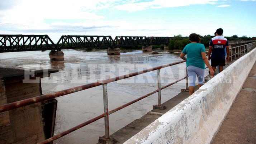
[[[198,78],[198,88],[204,84],[204,63],[209,68],[212,76],[214,76],[214,71],[206,57],[204,45],[200,44],[200,36],[198,34],[190,34],[189,40],[191,43],[185,46],[180,54],[180,58],[186,61],[189,76],[189,95],[192,95],[195,90],[196,75]],[[187,58],[184,57],[186,54]]]

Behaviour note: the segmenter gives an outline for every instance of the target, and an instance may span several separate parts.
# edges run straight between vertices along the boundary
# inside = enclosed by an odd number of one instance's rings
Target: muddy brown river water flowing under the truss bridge
[[[50,61],[49,51],[0,53],[0,67],[22,69],[58,69],[51,77],[42,78],[43,94],[125,75],[145,68],[181,61],[174,54],[159,51],[152,55],[141,50],[121,51],[120,56],[108,56],[106,51],[63,50],[65,61]],[[185,63],[161,69],[161,85],[185,76]],[[185,80],[161,91],[162,102],[185,88]],[[157,89],[157,71],[108,84],[109,110],[137,99]],[[58,97],[54,134],[70,129],[103,113],[102,86]],[[109,116],[110,134],[146,114],[157,104],[157,93]],[[76,130],[54,143],[97,143],[104,133],[104,119]]]

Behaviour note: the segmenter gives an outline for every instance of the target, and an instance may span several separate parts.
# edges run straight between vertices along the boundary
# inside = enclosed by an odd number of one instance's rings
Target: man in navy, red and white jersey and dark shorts
[[[223,66],[225,66],[225,60],[229,61],[229,44],[228,40],[222,36],[223,29],[219,28],[216,30],[216,36],[210,40],[208,60],[211,60],[211,66],[213,71],[219,66],[219,72],[223,71]],[[227,58],[225,59],[225,49],[227,53]],[[210,56],[212,52],[212,57]]]

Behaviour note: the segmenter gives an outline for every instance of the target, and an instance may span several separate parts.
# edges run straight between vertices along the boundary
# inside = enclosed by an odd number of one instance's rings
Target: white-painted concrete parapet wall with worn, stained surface
[[[210,143],[251,71],[255,56],[256,48],[125,143]]]

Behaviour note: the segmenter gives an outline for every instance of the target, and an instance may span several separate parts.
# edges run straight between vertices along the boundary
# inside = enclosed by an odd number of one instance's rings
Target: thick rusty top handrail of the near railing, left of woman
[[[62,90],[62,91],[58,91],[58,92],[49,93],[49,94],[46,94],[46,95],[41,95],[41,96],[36,96],[36,97],[32,97],[32,98],[25,99],[25,100],[11,102],[9,104],[1,105],[0,106],[0,112],[17,109],[19,107],[35,104],[37,102],[51,100],[51,99],[54,99],[56,97],[60,97],[60,96],[64,96],[64,95],[67,95],[67,94],[70,94],[70,93],[86,90],[88,88],[100,86],[100,85],[103,85],[104,83],[110,83],[110,82],[114,82],[114,81],[123,80],[125,78],[141,75],[143,73],[155,71],[157,69],[173,66],[175,64],[179,64],[179,63],[183,63],[183,62],[186,62],[186,61],[183,60],[183,61],[179,61],[179,62],[165,64],[165,65],[154,67],[154,68],[150,68],[150,69],[144,69],[142,71],[129,73],[127,75],[118,76],[118,77],[114,77],[114,78],[109,78],[107,80],[101,80],[101,81],[97,81],[97,82],[94,82],[94,83],[89,83],[89,84],[86,84],[86,85],[82,85],[82,86],[78,86],[78,87],[73,87],[73,88],[68,88],[66,90]]]

